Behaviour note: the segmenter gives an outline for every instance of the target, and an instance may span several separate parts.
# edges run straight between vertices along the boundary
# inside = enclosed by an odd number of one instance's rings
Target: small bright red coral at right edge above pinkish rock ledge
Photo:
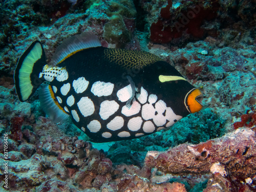
[[[252,127],[256,125],[256,110],[253,113],[246,112],[246,114],[241,116],[241,121],[233,123],[234,129],[238,129],[239,127]]]

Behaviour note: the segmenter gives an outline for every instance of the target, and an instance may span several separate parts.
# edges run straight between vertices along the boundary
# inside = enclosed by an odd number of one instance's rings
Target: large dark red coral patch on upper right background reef
[[[201,29],[203,21],[216,18],[220,7],[219,3],[214,0],[211,3],[211,7],[207,8],[196,4],[182,11],[182,8],[177,8],[174,13],[170,13],[172,1],[169,0],[168,5],[160,11],[161,18],[151,25],[151,40],[167,43],[174,38],[181,37],[184,32],[196,38],[203,37],[204,29]]]

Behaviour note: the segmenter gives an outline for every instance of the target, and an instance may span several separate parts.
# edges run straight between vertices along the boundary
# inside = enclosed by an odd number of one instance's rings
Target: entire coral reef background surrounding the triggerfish
[[[256,191],[255,0],[2,0],[0,18],[0,191]],[[46,117],[37,92],[20,102],[13,73],[29,45],[41,41],[49,63],[84,31],[169,62],[204,108],[150,136],[92,143]]]

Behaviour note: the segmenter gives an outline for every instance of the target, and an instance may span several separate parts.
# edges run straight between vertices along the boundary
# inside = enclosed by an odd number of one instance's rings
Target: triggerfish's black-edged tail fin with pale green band
[[[45,79],[39,78],[46,65],[41,43],[34,41],[19,58],[14,72],[15,89],[20,101],[28,100]]]

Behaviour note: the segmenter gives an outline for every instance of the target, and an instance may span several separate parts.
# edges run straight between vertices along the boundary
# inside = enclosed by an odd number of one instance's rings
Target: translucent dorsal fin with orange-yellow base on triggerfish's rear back
[[[57,65],[59,62],[70,55],[73,55],[77,51],[100,46],[100,41],[93,32],[84,32],[79,35],[74,35],[63,40],[57,47],[55,54],[52,57],[52,63],[53,65]]]

